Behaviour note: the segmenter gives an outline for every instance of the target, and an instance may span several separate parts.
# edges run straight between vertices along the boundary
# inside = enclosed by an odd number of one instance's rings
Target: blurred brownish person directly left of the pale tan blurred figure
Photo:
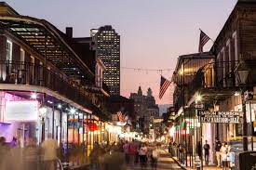
[[[36,138],[31,137],[28,139],[28,144],[24,148],[24,167],[26,170],[36,170],[39,163],[39,149],[36,145]]]

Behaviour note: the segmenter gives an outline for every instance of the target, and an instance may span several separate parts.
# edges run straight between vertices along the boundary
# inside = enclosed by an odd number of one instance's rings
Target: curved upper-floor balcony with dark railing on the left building
[[[88,91],[84,86],[70,80],[65,74],[51,71],[31,62],[1,60],[0,83],[45,87],[83,107],[92,107]]]

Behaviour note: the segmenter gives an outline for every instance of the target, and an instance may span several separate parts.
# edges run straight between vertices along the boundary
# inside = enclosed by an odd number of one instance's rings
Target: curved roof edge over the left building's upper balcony
[[[49,33],[51,33],[54,37],[58,38],[59,40],[61,40],[61,43],[64,44],[64,46],[66,46],[74,55],[74,57],[76,59],[78,59],[78,61],[80,61],[82,63],[82,65],[88,70],[88,72],[94,76],[94,73],[91,72],[88,68],[88,66],[82,61],[82,59],[80,59],[78,57],[78,55],[74,52],[74,50],[72,49],[71,46],[68,45],[68,43],[62,38],[61,34],[58,32],[61,32],[60,30],[58,30],[54,25],[52,25],[50,22],[48,22],[47,20],[40,20],[40,19],[36,19],[33,17],[29,17],[29,16],[7,16],[7,15],[0,15],[0,20],[19,20],[19,21],[26,21],[26,22],[32,22],[34,24],[38,24],[42,27],[44,27]]]

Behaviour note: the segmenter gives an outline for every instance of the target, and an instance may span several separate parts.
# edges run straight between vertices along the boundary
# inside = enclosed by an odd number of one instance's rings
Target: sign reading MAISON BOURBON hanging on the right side
[[[243,112],[199,111],[198,119],[200,123],[241,124],[243,119]]]

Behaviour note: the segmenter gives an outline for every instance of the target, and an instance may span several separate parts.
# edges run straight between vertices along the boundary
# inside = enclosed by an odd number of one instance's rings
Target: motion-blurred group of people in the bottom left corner
[[[0,137],[0,169],[7,170],[53,170],[57,166],[58,142],[48,137],[41,146],[35,137],[28,138],[25,146],[13,137],[11,142]]]

